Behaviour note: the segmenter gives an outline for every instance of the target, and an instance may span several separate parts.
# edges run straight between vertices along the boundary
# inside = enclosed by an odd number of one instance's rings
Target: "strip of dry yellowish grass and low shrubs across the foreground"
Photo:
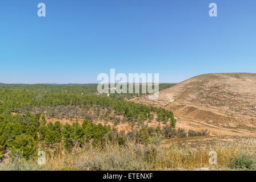
[[[256,170],[255,147],[247,144],[191,148],[173,144],[155,145],[87,143],[72,152],[59,145],[46,149],[46,164],[37,158],[25,159],[11,154],[0,163],[0,170]],[[209,164],[209,152],[217,152],[217,165]]]

